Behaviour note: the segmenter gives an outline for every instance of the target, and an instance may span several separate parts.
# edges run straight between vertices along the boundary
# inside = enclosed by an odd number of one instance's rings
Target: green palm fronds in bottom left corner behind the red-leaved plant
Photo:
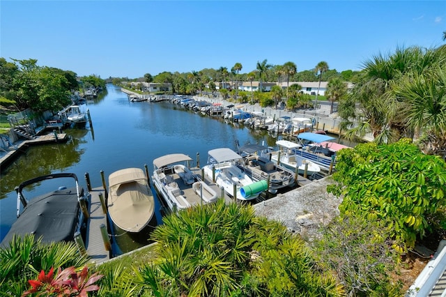
[[[28,280],[52,267],[82,267],[88,259],[79,255],[75,243],[45,244],[33,235],[14,236],[8,247],[0,248],[0,292],[4,296],[20,296]]]

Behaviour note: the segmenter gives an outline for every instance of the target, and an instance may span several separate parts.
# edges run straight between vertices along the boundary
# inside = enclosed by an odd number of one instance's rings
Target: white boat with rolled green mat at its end
[[[208,165],[203,172],[211,181],[224,188],[231,197],[252,200],[268,188],[266,181],[255,182],[237,167],[236,161],[243,157],[231,148],[215,148],[208,151]]]

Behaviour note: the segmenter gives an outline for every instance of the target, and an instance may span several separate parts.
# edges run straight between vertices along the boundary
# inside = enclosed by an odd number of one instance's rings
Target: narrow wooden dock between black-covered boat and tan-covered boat
[[[87,227],[86,235],[86,253],[90,260],[96,264],[102,263],[110,259],[111,251],[105,250],[105,244],[102,240],[100,226],[105,224],[107,226],[107,213],[102,211],[99,194],[102,194],[105,199],[105,191],[103,188],[94,188],[90,191],[90,218]]]

